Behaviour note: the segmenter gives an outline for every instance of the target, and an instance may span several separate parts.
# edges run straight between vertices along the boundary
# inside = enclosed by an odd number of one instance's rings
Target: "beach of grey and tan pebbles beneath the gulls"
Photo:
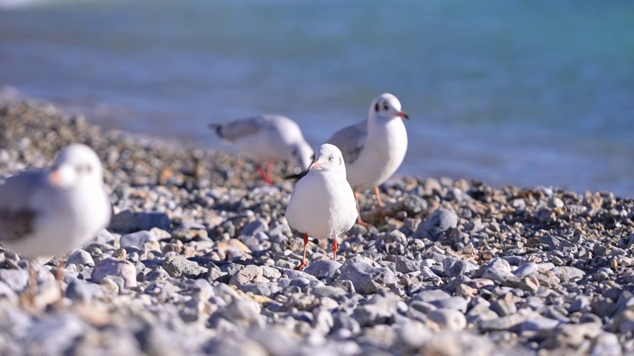
[[[3,355],[634,354],[632,200],[394,177],[384,222],[354,226],[336,262],[309,244],[297,271],[290,167],[268,186],[233,155],[42,101],[0,107],[0,179],[70,143],[100,156],[115,215],[65,260],[38,260],[36,310],[27,261],[0,250]]]

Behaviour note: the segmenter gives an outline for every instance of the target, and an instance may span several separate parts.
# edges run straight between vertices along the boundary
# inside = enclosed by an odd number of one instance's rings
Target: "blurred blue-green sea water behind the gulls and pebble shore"
[[[634,196],[634,1],[0,0],[0,86],[105,127],[226,149],[293,118],[318,146],[391,92],[401,174]]]

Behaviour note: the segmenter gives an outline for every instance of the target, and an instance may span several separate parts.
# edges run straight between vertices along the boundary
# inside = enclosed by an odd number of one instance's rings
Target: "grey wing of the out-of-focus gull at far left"
[[[20,239],[33,231],[37,212],[27,204],[43,177],[41,170],[29,170],[0,186],[0,242]]]

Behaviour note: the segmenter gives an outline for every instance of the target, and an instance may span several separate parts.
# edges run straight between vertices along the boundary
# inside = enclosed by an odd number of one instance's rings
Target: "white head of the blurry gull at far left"
[[[51,167],[49,181],[59,188],[82,184],[103,184],[103,168],[99,156],[84,144],[71,144],[61,150]]]

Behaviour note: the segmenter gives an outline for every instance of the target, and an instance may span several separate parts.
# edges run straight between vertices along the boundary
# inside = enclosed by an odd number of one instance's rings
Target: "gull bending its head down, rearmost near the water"
[[[299,125],[282,115],[261,115],[209,127],[246,155],[268,162],[266,174],[261,165],[257,166],[257,172],[268,184],[273,184],[274,162],[289,160],[297,173],[307,169],[314,160],[313,148],[304,139]]]

